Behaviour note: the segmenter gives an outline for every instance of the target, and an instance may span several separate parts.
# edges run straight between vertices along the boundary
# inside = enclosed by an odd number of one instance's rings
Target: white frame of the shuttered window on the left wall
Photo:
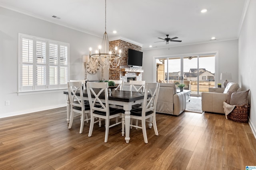
[[[32,50],[32,52],[30,54],[33,54],[33,61],[32,62],[23,62],[22,61],[22,52],[23,52],[23,43],[22,40],[23,39],[29,39],[30,42],[33,43],[33,47],[30,48]],[[38,63],[37,59],[37,46],[36,43],[37,42],[42,42],[45,43],[45,50],[42,50],[45,56],[45,63]],[[50,62],[50,44],[54,44],[57,47],[56,50],[56,62],[55,64]],[[43,46],[44,47],[44,46]],[[54,40],[50,40],[50,39],[45,39],[45,38],[40,38],[40,37],[35,37],[35,36],[31,36],[31,35],[25,35],[22,33],[19,33],[18,35],[18,48],[19,48],[19,53],[18,53],[18,94],[22,94],[22,93],[27,93],[27,94],[31,94],[31,92],[42,92],[42,91],[49,91],[49,92],[55,92],[56,90],[60,90],[60,89],[66,89],[67,88],[67,83],[69,80],[69,43],[63,43],[60,41],[54,41]],[[39,47],[40,49],[40,47]],[[41,54],[41,53],[40,53]],[[39,54],[39,55],[40,55]],[[41,54],[42,55],[42,54]],[[31,55],[30,55],[31,56]],[[63,60],[64,59],[64,60]],[[61,61],[62,60],[62,61]],[[22,84],[22,80],[23,80],[23,64],[28,64],[30,66],[32,66],[32,72],[33,72],[33,76],[31,76],[31,80],[32,80],[32,84],[30,85],[24,85]],[[44,67],[43,70],[45,70],[43,72],[43,77],[45,76],[45,78],[42,78],[42,84],[37,84],[36,82],[36,68],[37,66],[42,66]],[[50,83],[50,67],[54,66],[57,68],[57,79],[54,82],[54,84]],[[64,72],[61,72],[61,70],[64,70]],[[31,75],[31,74],[30,74]],[[40,74],[39,74],[40,75]],[[62,75],[62,78],[60,77]],[[42,76],[40,76],[41,78]],[[64,78],[63,78],[64,77]],[[63,80],[62,80],[63,79]],[[29,78],[28,78],[29,80]],[[39,81],[38,81],[39,82]]]

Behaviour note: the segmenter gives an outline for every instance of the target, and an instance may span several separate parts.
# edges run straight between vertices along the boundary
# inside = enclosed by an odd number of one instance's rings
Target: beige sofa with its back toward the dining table
[[[179,115],[185,109],[186,93],[177,93],[174,83],[160,83],[156,112]]]

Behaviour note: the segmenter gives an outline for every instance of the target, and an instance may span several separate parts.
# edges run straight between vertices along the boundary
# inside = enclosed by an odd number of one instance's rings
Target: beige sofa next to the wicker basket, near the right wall
[[[228,99],[228,92],[240,91],[239,84],[229,82],[225,89],[216,88],[214,92],[202,92],[202,111],[224,114],[223,102]]]

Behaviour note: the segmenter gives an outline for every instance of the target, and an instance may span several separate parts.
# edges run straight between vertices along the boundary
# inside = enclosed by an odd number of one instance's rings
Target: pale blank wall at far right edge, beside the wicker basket
[[[250,89],[250,126],[256,137],[256,1],[250,0],[239,36],[238,80],[242,90]]]

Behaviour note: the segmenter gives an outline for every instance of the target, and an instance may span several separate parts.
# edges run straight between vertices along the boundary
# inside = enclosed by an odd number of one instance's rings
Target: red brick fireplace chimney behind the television
[[[132,43],[128,43],[128,42],[120,40],[120,39],[109,42],[109,48],[112,51],[115,51],[115,47],[118,47],[118,51],[119,51],[119,49],[122,50],[121,60],[120,60],[120,65],[116,69],[109,69],[109,80],[122,80],[124,78],[122,77],[123,72],[121,69],[128,67],[128,65],[127,65],[128,49],[142,51],[142,48],[138,45],[134,45]],[[140,77],[141,77],[141,75],[140,75]],[[127,80],[124,80],[124,81],[126,82]]]

